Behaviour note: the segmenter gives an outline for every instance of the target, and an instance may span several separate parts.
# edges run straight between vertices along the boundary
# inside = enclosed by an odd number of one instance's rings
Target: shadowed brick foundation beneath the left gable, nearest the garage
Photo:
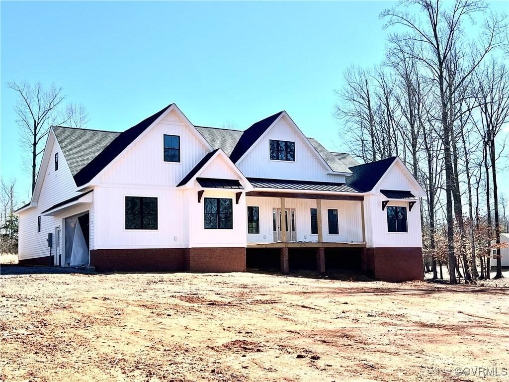
[[[183,248],[104,249],[90,251],[90,264],[99,271],[183,271]]]

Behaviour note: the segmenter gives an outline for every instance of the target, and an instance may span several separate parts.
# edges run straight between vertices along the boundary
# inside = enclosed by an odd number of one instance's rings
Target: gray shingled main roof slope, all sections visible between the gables
[[[52,126],[62,152],[74,176],[94,159],[120,132],[74,127]],[[232,154],[243,131],[217,127],[196,126],[213,149],[221,148],[228,156]],[[312,146],[324,158],[333,171],[350,173],[349,167],[359,163],[349,154],[328,151],[316,139],[308,138]]]

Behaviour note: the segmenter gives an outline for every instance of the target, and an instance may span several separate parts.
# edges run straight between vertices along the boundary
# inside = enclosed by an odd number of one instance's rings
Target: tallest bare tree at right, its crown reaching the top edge
[[[449,275],[451,284],[456,283],[457,261],[454,247],[454,220],[453,220],[453,192],[455,189],[455,171],[453,166],[453,153],[451,140],[453,139],[453,123],[450,118],[453,107],[450,100],[471,76],[473,71],[485,59],[487,54],[497,46],[503,45],[503,32],[505,24],[503,18],[492,18],[485,23],[482,47],[477,49],[473,45],[468,62],[464,63],[464,71],[456,77],[454,83],[447,76],[447,65],[453,62],[455,43],[465,38],[464,21],[471,20],[474,14],[486,10],[486,5],[477,0],[456,0],[452,7],[445,8],[441,3],[431,0],[414,0],[403,2],[404,8],[395,7],[382,12],[381,17],[387,19],[386,27],[403,26],[405,33],[392,35],[394,43],[412,41],[420,46],[419,54],[405,50],[428,73],[434,81],[440,101],[440,123],[445,160],[445,188],[446,188],[446,221],[447,221],[447,247],[449,260]],[[418,13],[411,15],[408,10],[416,6]],[[404,46],[404,44],[399,44]],[[466,61],[466,60],[464,60]]]

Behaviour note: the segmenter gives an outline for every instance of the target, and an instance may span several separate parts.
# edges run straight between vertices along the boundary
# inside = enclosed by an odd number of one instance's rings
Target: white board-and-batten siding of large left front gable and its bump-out
[[[179,135],[180,163],[163,161],[164,134]],[[101,214],[96,248],[245,247],[244,204],[235,204],[238,189],[206,191],[204,198],[233,199],[234,229],[205,230],[203,199],[197,203],[199,185],[195,182],[189,190],[176,188],[208,151],[176,112],[147,131],[100,176],[100,185],[94,189],[95,208]],[[238,179],[230,166],[217,156],[200,176]],[[125,229],[126,196],[157,198],[157,230]]]

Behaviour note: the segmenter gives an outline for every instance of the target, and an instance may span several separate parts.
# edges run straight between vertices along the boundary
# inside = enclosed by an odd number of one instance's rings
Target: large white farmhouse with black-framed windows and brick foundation
[[[51,127],[17,211],[19,261],[422,279],[424,195],[398,157],[359,165],[286,112],[238,131],[195,126],[170,104],[123,132]]]

